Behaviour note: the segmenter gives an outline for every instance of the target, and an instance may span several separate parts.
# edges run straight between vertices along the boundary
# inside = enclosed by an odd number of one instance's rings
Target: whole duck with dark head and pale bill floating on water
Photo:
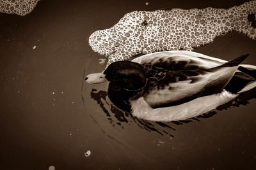
[[[190,51],[166,51],[116,61],[86,83],[109,81],[108,96],[134,117],[171,122],[216,109],[256,86],[256,66]]]

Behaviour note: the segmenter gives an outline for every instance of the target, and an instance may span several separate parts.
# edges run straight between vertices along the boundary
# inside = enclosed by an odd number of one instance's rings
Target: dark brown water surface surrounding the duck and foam
[[[255,90],[247,103],[210,118],[157,127],[129,115],[127,122],[109,119],[91,97],[107,84],[83,84],[84,74],[105,67],[88,45],[90,34],[125,13],[243,2],[45,0],[25,17],[1,13],[0,169],[256,169]],[[227,60],[250,53],[244,63],[255,65],[255,46],[231,32],[195,51]]]

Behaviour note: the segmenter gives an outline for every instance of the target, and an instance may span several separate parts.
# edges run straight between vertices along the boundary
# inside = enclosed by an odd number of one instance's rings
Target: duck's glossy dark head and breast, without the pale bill
[[[131,61],[113,62],[104,71],[109,81],[108,97],[121,110],[131,111],[130,100],[145,92],[147,73],[143,66]]]

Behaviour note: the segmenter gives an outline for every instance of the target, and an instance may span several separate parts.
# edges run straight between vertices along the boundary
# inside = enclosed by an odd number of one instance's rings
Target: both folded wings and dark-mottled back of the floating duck
[[[147,70],[144,99],[152,108],[186,103],[196,97],[220,92],[237,67],[220,67],[218,60],[177,53],[155,53],[140,59]]]

